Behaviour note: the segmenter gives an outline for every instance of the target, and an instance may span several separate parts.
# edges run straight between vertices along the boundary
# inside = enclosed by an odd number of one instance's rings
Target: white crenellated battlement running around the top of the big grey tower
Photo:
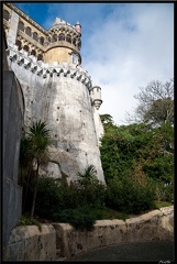
[[[19,51],[18,45],[9,46],[7,48],[7,55],[9,65],[12,62],[16,62],[18,65],[23,66],[26,70],[31,70],[33,74],[46,78],[47,76],[53,77],[54,74],[57,76],[64,76],[67,78],[77,79],[86,85],[90,90],[92,88],[91,77],[81,66],[76,66],[75,64],[67,65],[66,62],[53,64],[46,64],[42,61],[37,61],[34,55],[29,55],[26,51]]]

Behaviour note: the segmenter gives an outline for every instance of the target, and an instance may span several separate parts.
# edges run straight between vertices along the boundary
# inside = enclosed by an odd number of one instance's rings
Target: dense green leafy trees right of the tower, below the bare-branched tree
[[[173,186],[174,128],[170,123],[152,129],[145,123],[114,127],[102,136],[100,153],[108,185],[112,178],[130,177],[142,185],[152,179],[158,186]]]

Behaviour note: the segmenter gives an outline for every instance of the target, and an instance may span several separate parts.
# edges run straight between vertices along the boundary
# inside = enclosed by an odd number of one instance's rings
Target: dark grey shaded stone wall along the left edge
[[[3,249],[21,216],[22,188],[18,185],[19,150],[23,122],[23,96],[14,73],[9,70],[3,43]]]

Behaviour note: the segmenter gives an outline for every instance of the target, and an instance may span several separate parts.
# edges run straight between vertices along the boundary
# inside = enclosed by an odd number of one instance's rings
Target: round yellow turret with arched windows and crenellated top
[[[75,26],[60,18],[56,18],[54,24],[48,30],[45,41],[45,63],[66,62],[68,65],[81,64],[81,25],[79,22]]]

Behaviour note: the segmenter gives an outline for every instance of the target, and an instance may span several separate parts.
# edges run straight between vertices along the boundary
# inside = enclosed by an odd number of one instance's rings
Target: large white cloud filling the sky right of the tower
[[[102,20],[89,36],[82,59],[93,85],[102,88],[100,113],[110,113],[117,124],[125,123],[141,86],[174,74],[173,6],[129,4],[122,12],[119,18],[115,4],[112,15]]]

